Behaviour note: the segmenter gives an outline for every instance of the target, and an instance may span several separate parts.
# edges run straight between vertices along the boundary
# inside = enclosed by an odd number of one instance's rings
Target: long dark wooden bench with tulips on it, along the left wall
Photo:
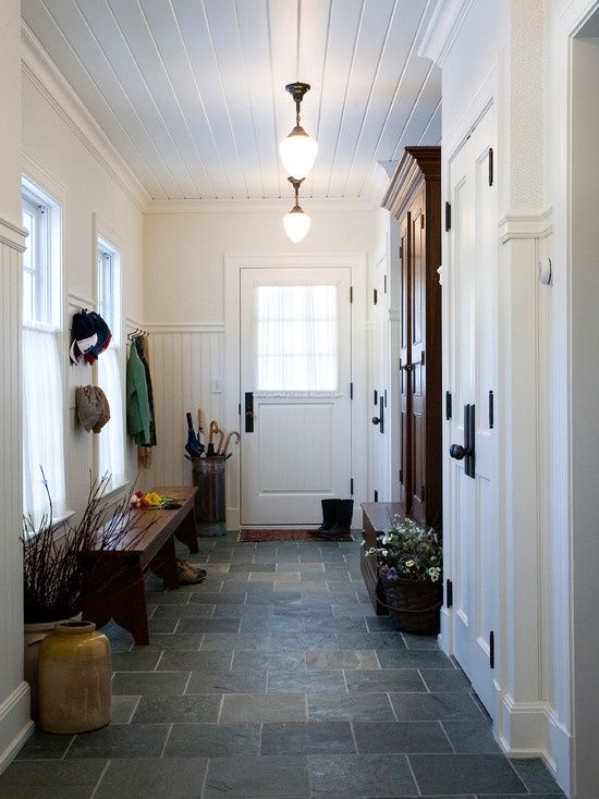
[[[181,507],[138,508],[133,512],[135,527],[114,549],[87,553],[87,574],[82,598],[83,617],[103,627],[113,618],[127,629],[135,643],[149,643],[144,573],[151,569],[167,588],[179,588],[174,539],[198,552],[195,523],[197,488],[158,488],[158,494],[172,496]],[[147,530],[148,521],[154,524]]]

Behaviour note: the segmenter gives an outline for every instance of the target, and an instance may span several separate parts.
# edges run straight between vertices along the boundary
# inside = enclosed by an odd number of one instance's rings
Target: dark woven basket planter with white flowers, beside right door
[[[384,604],[402,632],[436,635],[443,602],[443,551],[438,534],[395,516],[393,528],[366,551],[375,557]]]

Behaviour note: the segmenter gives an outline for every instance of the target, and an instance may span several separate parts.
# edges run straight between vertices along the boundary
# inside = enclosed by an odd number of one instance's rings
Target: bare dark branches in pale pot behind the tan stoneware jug
[[[44,471],[42,483],[48,495],[49,511],[39,526],[30,517],[23,518],[23,586],[25,620],[25,679],[32,692],[32,712],[37,711],[38,654],[44,639],[54,625],[81,618],[80,600],[84,570],[82,556],[86,552],[115,546],[131,534],[134,508],[129,496],[112,505],[105,494],[110,475],[90,480],[89,493],[81,520],[76,525],[57,525],[52,500]],[[151,521],[136,526],[142,536]]]

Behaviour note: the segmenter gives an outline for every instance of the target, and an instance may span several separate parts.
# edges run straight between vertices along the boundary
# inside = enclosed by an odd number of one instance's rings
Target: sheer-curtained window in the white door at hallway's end
[[[258,286],[256,292],[258,391],[337,391],[337,286]]]

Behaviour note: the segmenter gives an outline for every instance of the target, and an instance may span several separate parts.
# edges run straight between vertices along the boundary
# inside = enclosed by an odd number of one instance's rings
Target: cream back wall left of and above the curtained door
[[[224,256],[365,253],[374,263],[380,249],[375,210],[365,202],[305,200],[311,217],[300,245],[286,237],[288,202],[156,201],[145,217],[144,285],[146,323],[151,331],[159,445],[139,479],[168,485],[190,483],[183,457],[184,411],[198,407],[224,419]],[[356,386],[356,392],[366,386]],[[366,425],[366,420],[364,422]],[[357,517],[356,517],[357,518]]]

